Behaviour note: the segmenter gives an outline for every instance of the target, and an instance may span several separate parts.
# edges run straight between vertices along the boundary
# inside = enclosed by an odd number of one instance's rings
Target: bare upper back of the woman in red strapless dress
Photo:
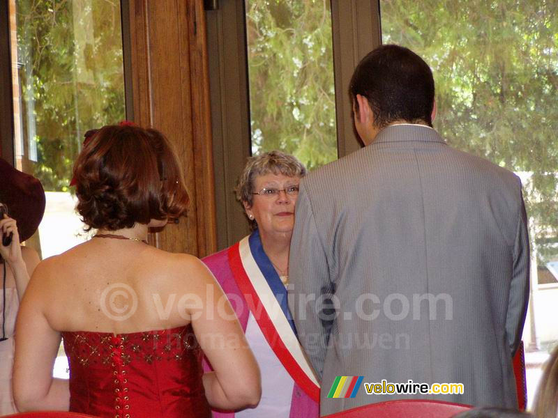
[[[186,310],[177,308],[183,295],[202,286],[199,265],[193,256],[168,253],[144,242],[92,238],[45,260],[37,285],[54,330],[114,334],[162,330],[190,323]]]

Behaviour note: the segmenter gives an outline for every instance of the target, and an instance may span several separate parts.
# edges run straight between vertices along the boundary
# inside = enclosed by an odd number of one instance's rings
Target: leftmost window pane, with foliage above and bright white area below
[[[10,0],[15,162],[45,188],[42,257],[83,242],[70,190],[84,132],[125,118],[119,0]],[[61,353],[63,354],[63,353]],[[66,374],[57,359],[55,376]]]

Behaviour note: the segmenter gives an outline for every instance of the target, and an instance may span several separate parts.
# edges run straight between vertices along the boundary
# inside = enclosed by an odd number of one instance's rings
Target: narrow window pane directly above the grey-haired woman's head
[[[337,158],[329,0],[246,0],[252,154]]]

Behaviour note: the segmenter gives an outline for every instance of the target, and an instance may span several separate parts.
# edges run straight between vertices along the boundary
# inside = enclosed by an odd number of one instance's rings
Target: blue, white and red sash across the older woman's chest
[[[229,263],[248,309],[273,353],[296,384],[310,398],[319,401],[319,383],[289,320],[285,286],[265,255],[257,232],[229,248]],[[282,292],[278,291],[279,285]]]

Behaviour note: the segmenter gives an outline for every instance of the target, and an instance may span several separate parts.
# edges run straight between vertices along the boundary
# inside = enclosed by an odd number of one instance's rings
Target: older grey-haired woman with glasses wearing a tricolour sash
[[[271,151],[248,160],[236,187],[253,232],[204,258],[229,297],[262,369],[255,409],[214,417],[318,417],[319,386],[296,339],[287,309],[289,247],[299,182],[306,174],[292,155]]]

